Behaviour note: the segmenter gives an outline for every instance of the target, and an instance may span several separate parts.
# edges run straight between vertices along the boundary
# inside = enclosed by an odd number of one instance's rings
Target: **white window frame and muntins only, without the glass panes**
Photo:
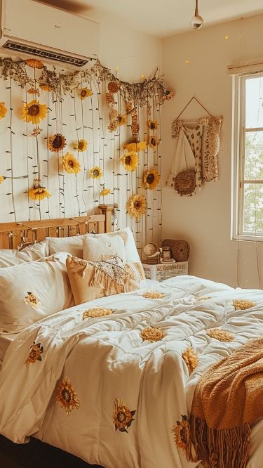
[[[262,71],[235,74],[232,82],[232,161],[231,161],[231,240],[246,240],[263,242],[263,233],[246,233],[243,231],[243,201],[245,183],[262,183],[263,181],[248,181],[244,178],[245,171],[245,80],[262,76]],[[263,127],[249,131],[263,131]]]

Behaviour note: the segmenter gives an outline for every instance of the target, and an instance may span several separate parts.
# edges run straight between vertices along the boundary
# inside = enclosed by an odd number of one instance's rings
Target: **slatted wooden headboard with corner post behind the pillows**
[[[101,214],[40,221],[0,223],[0,249],[18,247],[40,242],[46,237],[65,238],[86,233],[109,233],[112,230],[114,205],[100,204]]]

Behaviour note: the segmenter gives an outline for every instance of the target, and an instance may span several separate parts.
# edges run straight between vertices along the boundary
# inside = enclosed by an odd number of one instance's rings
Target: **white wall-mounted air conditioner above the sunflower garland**
[[[90,58],[98,56],[98,22],[33,0],[0,3],[3,53],[58,60],[74,68],[85,67]]]

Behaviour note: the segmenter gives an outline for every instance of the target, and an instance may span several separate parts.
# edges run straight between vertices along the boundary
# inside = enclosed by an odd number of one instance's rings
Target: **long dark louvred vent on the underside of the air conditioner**
[[[37,48],[34,46],[28,46],[25,44],[20,44],[19,42],[14,41],[6,41],[3,44],[4,48],[11,49],[12,51],[18,51],[22,53],[27,53],[29,55],[38,56],[41,58],[48,58],[49,60],[58,60],[58,62],[68,63],[69,65],[75,65],[76,67],[83,67],[86,65],[91,59],[81,59],[72,56],[66,56],[63,53],[52,52],[52,51],[45,51],[43,48]]]

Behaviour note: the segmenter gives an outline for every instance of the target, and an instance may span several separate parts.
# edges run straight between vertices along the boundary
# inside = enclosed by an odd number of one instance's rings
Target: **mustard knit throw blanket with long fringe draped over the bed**
[[[203,460],[205,468],[245,468],[251,427],[262,417],[260,338],[220,360],[198,382],[189,419],[188,460]]]

